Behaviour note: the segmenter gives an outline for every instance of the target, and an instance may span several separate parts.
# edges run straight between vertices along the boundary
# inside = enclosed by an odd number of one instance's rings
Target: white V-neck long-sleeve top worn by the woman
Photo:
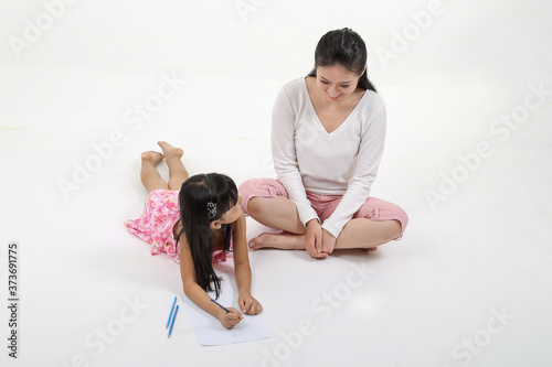
[[[349,117],[328,133],[304,77],[286,84],[273,109],[274,168],[304,225],[318,218],[306,191],[343,195],[322,228],[336,238],[364,204],[378,173],[385,140],[385,104],[367,90]]]

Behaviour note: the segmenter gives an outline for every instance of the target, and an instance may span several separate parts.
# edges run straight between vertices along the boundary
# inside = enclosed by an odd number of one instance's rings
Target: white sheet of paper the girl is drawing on
[[[224,277],[225,278],[225,277]],[[227,283],[227,280],[222,282]],[[226,284],[224,284],[226,285]],[[222,287],[221,296],[216,302],[225,307],[237,307],[237,295],[234,295],[232,287]],[[209,293],[214,300],[214,294]],[[266,332],[265,326],[261,321],[261,315],[243,315],[244,320],[231,330],[225,328],[222,324],[201,310],[193,303],[184,293],[180,293],[180,301],[184,307],[188,320],[193,327],[195,337],[201,345],[223,345],[240,342],[253,342],[270,337]]]

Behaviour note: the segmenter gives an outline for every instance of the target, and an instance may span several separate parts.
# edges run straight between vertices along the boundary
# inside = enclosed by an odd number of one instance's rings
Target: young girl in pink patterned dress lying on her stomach
[[[221,279],[213,270],[213,260],[226,260],[233,250],[237,303],[251,315],[263,307],[251,295],[251,268],[245,240],[245,216],[242,198],[232,179],[219,173],[189,177],[181,162],[182,150],[164,141],[158,142],[163,153],[141,154],[140,179],[148,191],[140,218],[126,220],[128,230],[150,244],[152,255],[167,252],[180,263],[185,295],[198,306],[216,317],[226,328],[243,320],[233,307],[230,313],[211,302],[208,291],[220,294]],[[164,159],[169,166],[169,182],[157,172]]]

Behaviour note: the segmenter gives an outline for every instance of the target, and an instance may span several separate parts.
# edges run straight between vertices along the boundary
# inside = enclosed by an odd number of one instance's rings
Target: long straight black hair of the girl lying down
[[[220,219],[236,203],[236,184],[231,177],[220,173],[191,176],[184,181],[179,193],[180,219],[173,227],[177,250],[184,234],[192,253],[198,284],[206,292],[214,291],[216,299],[221,291],[221,278],[216,277],[213,270],[214,234],[210,224]],[[225,224],[221,229],[224,239],[223,251],[226,252],[230,250],[232,227]]]

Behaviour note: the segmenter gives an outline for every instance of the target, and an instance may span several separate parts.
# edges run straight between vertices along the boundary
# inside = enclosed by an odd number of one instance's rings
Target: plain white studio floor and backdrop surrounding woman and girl
[[[56,18],[0,6],[2,304],[19,244],[2,366],[550,365],[549,2],[45,3]],[[274,176],[276,93],[342,26],[388,105],[372,193],[406,209],[404,238],[325,261],[251,252],[270,338],[202,347],[180,313],[168,339],[179,268],[123,225],[146,197],[140,152],[168,140],[192,174]]]

